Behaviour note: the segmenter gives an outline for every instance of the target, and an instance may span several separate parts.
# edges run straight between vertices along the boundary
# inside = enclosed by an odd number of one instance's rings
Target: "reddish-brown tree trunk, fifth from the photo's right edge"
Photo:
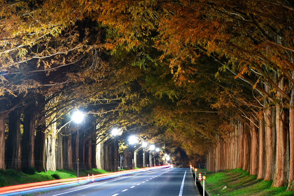
[[[257,124],[257,121],[253,116],[250,118],[250,138],[251,138],[251,147],[250,147],[250,174],[257,175],[258,169],[258,133],[257,127],[253,124]]]

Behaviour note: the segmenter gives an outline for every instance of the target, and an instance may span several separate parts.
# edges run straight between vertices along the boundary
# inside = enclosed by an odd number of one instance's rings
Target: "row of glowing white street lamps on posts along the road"
[[[77,152],[76,152],[76,158],[77,158],[77,178],[79,177],[79,132],[78,132],[78,128],[79,128],[79,123],[83,120],[83,113],[81,113],[80,111],[76,111],[72,116],[72,120],[74,120],[77,123]],[[116,135],[118,135],[119,130],[114,128],[111,131],[113,138],[114,138],[114,172],[116,172],[116,148],[115,148],[115,143],[116,143]],[[137,143],[138,140],[135,136],[131,136],[129,138],[129,144],[132,144],[132,164],[133,164],[133,169],[134,169],[134,144]],[[144,149],[144,156],[143,156],[143,167],[145,167],[145,148],[147,147],[148,143],[143,141],[142,142],[142,147]],[[153,151],[155,149],[156,152],[159,152],[160,149],[159,148],[155,148],[155,145],[150,145],[149,146],[149,150]],[[169,157],[167,154],[164,154],[165,156],[165,160],[169,160]]]

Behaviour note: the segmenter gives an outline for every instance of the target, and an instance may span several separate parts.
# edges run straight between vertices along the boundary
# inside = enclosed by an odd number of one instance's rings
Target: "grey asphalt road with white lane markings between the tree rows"
[[[164,168],[56,191],[46,196],[191,196],[190,168]]]

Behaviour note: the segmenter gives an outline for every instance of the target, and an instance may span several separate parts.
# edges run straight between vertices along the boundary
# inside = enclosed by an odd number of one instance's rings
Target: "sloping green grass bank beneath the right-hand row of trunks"
[[[202,173],[201,173],[202,174]],[[207,173],[206,173],[207,174]],[[249,175],[246,170],[224,170],[206,175],[205,189],[211,196],[290,196],[294,191],[286,191],[287,187],[271,188],[272,180],[256,180],[256,175]],[[223,189],[223,187],[227,188]]]

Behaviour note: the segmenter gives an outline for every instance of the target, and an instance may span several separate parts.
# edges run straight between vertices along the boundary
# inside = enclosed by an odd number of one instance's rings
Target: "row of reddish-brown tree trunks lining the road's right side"
[[[282,88],[283,79],[280,83]],[[216,137],[206,157],[208,170],[242,168],[258,179],[273,180],[273,187],[288,185],[288,190],[293,189],[293,105],[290,109],[283,107],[278,96],[280,102],[275,107],[265,101],[262,115],[235,120],[230,124],[231,131]]]

